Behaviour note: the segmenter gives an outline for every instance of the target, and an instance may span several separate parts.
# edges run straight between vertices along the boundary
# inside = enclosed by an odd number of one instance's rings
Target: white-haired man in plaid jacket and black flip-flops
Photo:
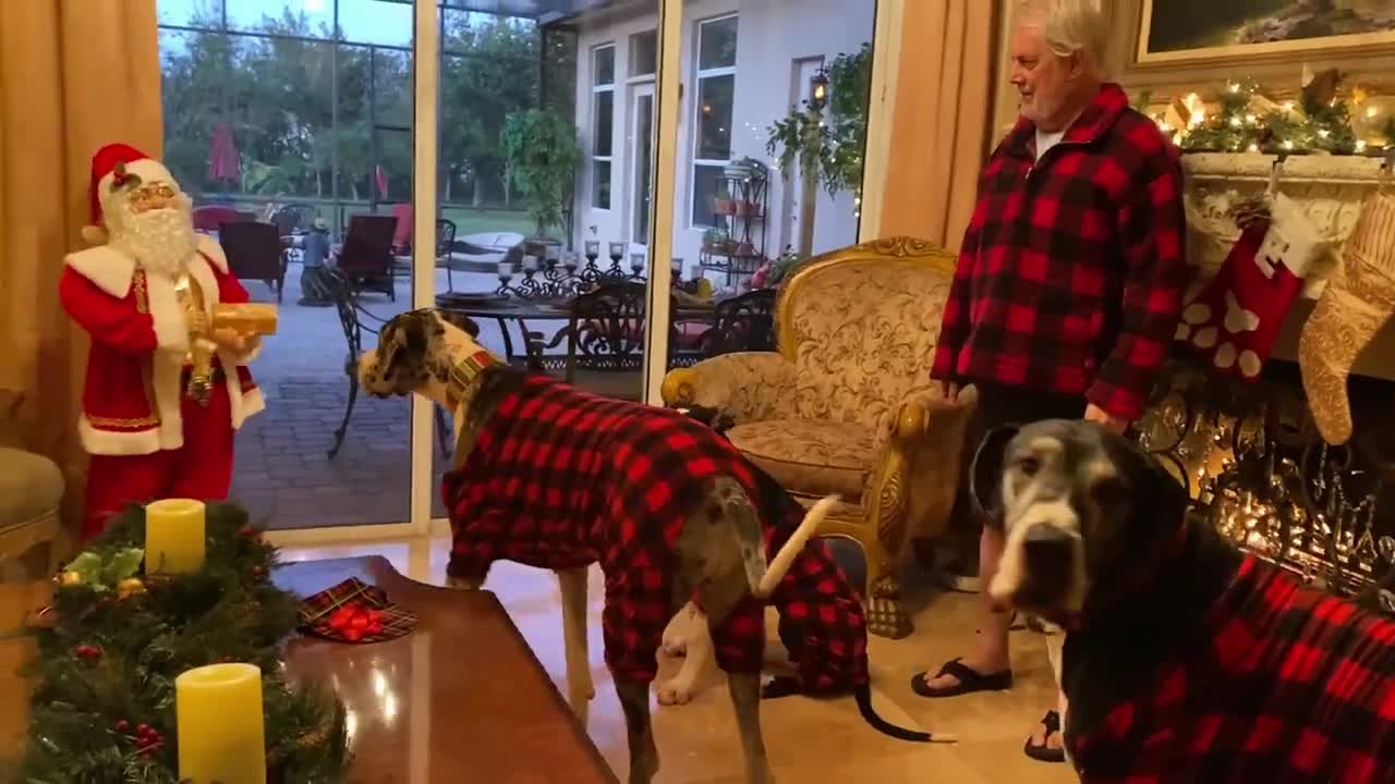
[[[1010,73],[1021,116],[983,167],[930,371],[949,398],[978,388],[975,446],[995,425],[1042,419],[1123,431],[1176,331],[1190,275],[1179,152],[1106,80],[1106,39],[1089,0],[1020,8]],[[912,679],[923,696],[1011,686],[1011,617],[986,589],[1018,575],[997,573],[1002,529],[976,525],[979,636],[968,656]],[[1027,753],[1064,759],[1059,731],[1048,713]]]

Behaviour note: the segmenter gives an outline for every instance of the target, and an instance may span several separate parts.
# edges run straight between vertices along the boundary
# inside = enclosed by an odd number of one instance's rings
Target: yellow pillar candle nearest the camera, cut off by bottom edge
[[[174,678],[179,776],[193,784],[266,784],[261,670],[209,664]]]

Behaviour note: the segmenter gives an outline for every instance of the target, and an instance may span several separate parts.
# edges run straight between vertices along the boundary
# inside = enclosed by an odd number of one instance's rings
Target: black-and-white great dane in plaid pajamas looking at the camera
[[[1395,781],[1389,619],[1242,554],[1094,423],[990,432],[971,487],[1006,527],[989,596],[1067,629],[1053,665],[1083,781]]]

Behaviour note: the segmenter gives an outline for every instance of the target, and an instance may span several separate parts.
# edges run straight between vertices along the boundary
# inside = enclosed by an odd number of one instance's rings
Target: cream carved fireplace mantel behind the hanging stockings
[[[1262,194],[1279,163],[1258,152],[1198,152],[1183,156],[1186,170],[1187,259],[1202,286],[1221,268],[1240,229],[1229,216],[1239,199]],[[1339,250],[1366,199],[1381,186],[1384,160],[1360,155],[1295,155],[1279,163],[1276,188],[1296,201],[1317,226],[1336,264]],[[1274,356],[1295,360],[1299,332],[1313,310],[1322,282],[1310,285],[1293,306]],[[1357,359],[1353,372],[1395,381],[1395,326],[1387,325]]]

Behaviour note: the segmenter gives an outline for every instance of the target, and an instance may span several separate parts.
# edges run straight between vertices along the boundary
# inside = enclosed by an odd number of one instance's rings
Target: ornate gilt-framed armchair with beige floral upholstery
[[[668,406],[730,416],[727,437],[792,494],[837,492],[820,536],[866,557],[868,628],[911,632],[900,566],[911,538],[942,536],[976,392],[943,400],[929,381],[954,254],[891,237],[809,259],[783,285],[777,352],[671,371]]]

